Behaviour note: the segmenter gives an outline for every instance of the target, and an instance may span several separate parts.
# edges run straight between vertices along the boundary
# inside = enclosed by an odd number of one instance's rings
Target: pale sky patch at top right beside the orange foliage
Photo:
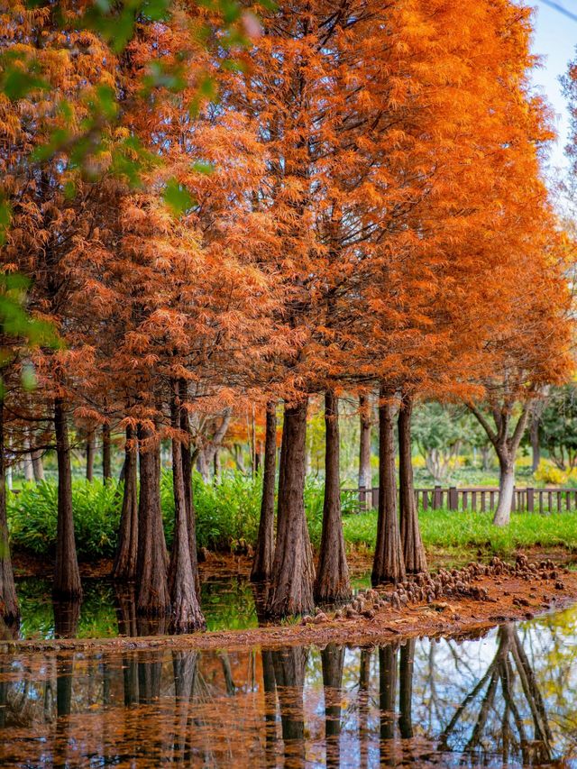
[[[577,16],[577,0],[554,2]],[[559,133],[551,151],[550,166],[563,171],[567,168],[563,148],[569,137],[569,110],[559,77],[567,71],[569,61],[576,57],[577,21],[572,21],[541,0],[529,0],[528,5],[536,9],[533,52],[543,57],[542,68],[536,70],[533,80],[554,109],[555,127]]]

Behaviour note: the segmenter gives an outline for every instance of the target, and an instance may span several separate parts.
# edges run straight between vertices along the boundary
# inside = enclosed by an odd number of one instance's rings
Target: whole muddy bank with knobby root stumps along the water
[[[4,635],[0,653],[50,649],[94,651],[139,648],[241,649],[293,644],[384,644],[412,636],[456,636],[482,631],[508,620],[533,618],[577,602],[577,572],[551,560],[516,564],[498,558],[491,565],[474,563],[452,572],[441,569],[393,589],[363,591],[336,612],[286,620],[280,625],[188,636],[139,636],[105,639],[11,640]],[[9,631],[5,631],[8,633]]]

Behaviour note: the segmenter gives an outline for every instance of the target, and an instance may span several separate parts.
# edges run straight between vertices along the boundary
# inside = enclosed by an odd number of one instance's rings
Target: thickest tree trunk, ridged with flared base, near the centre
[[[270,617],[311,612],[315,566],[305,517],[307,400],[285,406],[281,490],[272,583],[267,601]]]

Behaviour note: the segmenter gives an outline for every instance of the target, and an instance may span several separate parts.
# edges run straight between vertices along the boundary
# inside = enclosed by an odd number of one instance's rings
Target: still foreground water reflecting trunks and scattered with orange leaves
[[[0,765],[577,766],[577,609],[469,639],[0,656]]]

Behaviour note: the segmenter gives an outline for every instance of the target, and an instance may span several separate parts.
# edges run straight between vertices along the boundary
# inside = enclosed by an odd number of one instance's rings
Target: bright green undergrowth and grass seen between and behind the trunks
[[[246,551],[254,545],[261,507],[261,477],[240,473],[224,476],[218,484],[205,484],[194,476],[199,547],[215,551]],[[8,494],[8,521],[13,546],[37,555],[52,555],[56,544],[57,486],[55,481],[25,484]],[[349,549],[371,551],[377,533],[374,510],[360,512],[351,495],[343,494],[343,530]],[[114,555],[122,503],[122,486],[102,481],[73,481],[72,504],[78,556],[82,560]],[[174,502],[171,476],[161,481],[161,504],[167,544],[173,532]],[[305,493],[308,528],[314,547],[320,544],[323,488],[307,481]],[[421,510],[423,540],[429,550],[475,552],[508,556],[518,548],[563,547],[577,552],[577,513],[519,513],[505,528],[492,526],[490,513]]]

